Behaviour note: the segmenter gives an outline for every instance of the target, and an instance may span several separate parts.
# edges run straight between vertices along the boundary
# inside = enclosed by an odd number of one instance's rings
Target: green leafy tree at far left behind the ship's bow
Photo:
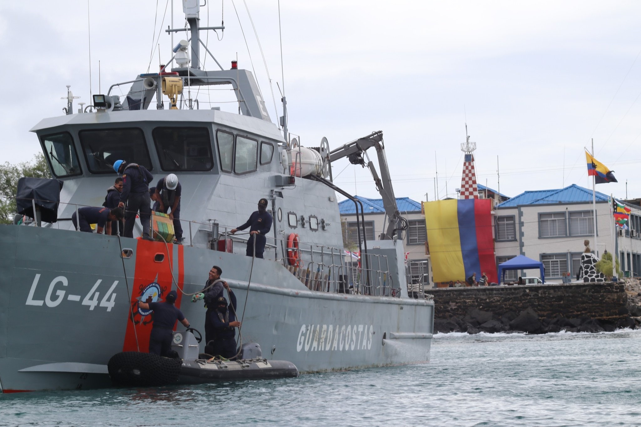
[[[44,154],[36,154],[31,162],[22,162],[17,165],[5,162],[0,165],[0,224],[13,222],[13,214],[17,210],[15,195],[18,190],[18,180],[22,177],[51,178]]]

